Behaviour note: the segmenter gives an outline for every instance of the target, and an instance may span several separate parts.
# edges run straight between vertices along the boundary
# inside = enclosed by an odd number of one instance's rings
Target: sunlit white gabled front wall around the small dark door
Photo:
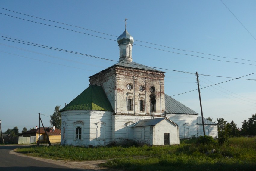
[[[180,144],[179,127],[165,119],[153,126],[153,145],[164,145],[164,133],[170,134],[170,145]]]

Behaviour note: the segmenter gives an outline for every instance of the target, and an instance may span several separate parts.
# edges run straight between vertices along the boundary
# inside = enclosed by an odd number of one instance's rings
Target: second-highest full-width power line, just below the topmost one
[[[0,13],[0,14],[3,14],[3,13]],[[8,15],[8,14],[3,14],[3,15],[6,15],[6,16],[9,16],[9,17],[14,17],[14,16],[11,16],[11,15]],[[95,36],[95,35],[92,35],[92,34],[83,33],[83,32],[79,32],[79,31],[67,29],[67,28],[64,28],[64,27],[59,27],[59,26],[53,26],[53,25],[49,25],[49,24],[39,23],[39,22],[35,22],[35,21],[31,21],[31,20],[26,20],[26,19],[19,18],[19,17],[14,17],[14,18],[25,20],[25,21],[29,21],[29,22],[33,22],[33,23],[38,23],[38,24],[42,24],[42,25],[46,25],[46,26],[52,26],[52,27],[56,27],[56,28],[60,28],[60,29],[64,29],[64,30],[69,30],[69,31],[73,31],[73,32],[76,32],[76,33],[82,33],[82,34],[86,34],[86,35],[89,35],[89,36],[98,37],[98,38],[101,38],[101,39],[107,39],[107,40],[116,41],[114,39],[108,39],[108,38],[104,38],[104,37],[100,37],[100,36]],[[140,42],[142,42],[142,41],[140,41]],[[152,43],[150,43],[150,44],[152,44]],[[201,56],[198,56],[198,55],[190,55],[190,54],[177,53],[177,52],[167,51],[167,50],[163,50],[163,49],[159,49],[159,48],[153,48],[153,47],[139,45],[139,44],[133,44],[133,45],[138,45],[138,46],[142,46],[142,47],[146,47],[146,48],[152,48],[152,49],[161,50],[161,51],[165,51],[165,52],[170,52],[170,53],[174,53],[174,54],[182,54],[182,55],[193,56],[193,57],[198,57],[198,58],[205,58],[205,59],[210,59],[210,60],[214,60],[214,61],[222,61],[222,62],[231,62],[231,63],[238,63],[238,64],[253,65],[253,64],[247,64],[247,63],[242,63],[242,62],[217,60],[217,59],[212,59],[212,58],[207,58],[207,57],[201,57]],[[216,56],[216,55],[213,55],[213,56]],[[221,57],[221,56],[218,56],[218,57]],[[221,57],[221,58],[227,58],[227,57]],[[230,59],[245,60],[245,59],[240,59],[240,58],[230,58]],[[252,60],[245,60],[245,61],[252,61]],[[253,61],[253,62],[256,62],[256,61]]]

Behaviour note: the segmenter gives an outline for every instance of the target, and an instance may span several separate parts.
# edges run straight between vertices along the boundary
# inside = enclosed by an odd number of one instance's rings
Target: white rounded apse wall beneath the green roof
[[[61,137],[61,144],[65,145],[106,145],[111,141],[111,116],[112,112],[91,111],[91,110],[67,110],[61,112],[62,129],[65,126],[65,139]],[[75,125],[77,121],[82,121],[81,140],[75,138]],[[105,140],[96,140],[97,122],[105,124]],[[61,135],[63,136],[63,135]]]

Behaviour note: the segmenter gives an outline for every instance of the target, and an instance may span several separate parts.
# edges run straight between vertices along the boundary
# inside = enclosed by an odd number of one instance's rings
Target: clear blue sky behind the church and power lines
[[[125,18],[135,39],[133,61],[162,68],[165,93],[176,95],[173,98],[198,113],[198,91],[188,92],[197,89],[196,76],[191,73],[211,75],[199,76],[200,88],[251,74],[201,89],[204,117],[213,121],[223,117],[241,127],[242,121],[256,113],[256,74],[252,74],[256,72],[256,2],[223,2],[229,9],[220,0],[2,0],[0,36],[11,38],[0,37],[2,131],[35,127],[38,113],[44,125],[50,126],[55,105],[64,107],[88,87],[89,76],[117,63],[116,39],[125,29]],[[7,41],[13,39],[114,61]],[[177,95],[180,93],[184,94]]]

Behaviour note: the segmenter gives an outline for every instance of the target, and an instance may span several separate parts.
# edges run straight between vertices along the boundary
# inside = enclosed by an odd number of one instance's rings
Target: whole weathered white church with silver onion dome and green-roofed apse
[[[203,135],[198,113],[164,93],[165,72],[133,62],[126,29],[117,42],[119,62],[90,76],[89,87],[61,110],[61,144],[171,145]],[[206,135],[217,136],[216,123],[204,125]]]

